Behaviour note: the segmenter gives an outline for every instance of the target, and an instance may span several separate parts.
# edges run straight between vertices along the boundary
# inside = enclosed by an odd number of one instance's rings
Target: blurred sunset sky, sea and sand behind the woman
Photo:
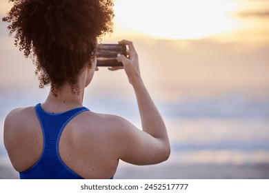
[[[0,16],[10,9],[0,0]],[[269,179],[269,1],[115,0],[114,32],[133,41],[143,80],[166,122],[165,163],[121,162],[116,179]],[[31,59],[0,23],[0,178],[17,179],[3,146],[5,116],[43,102]],[[126,74],[102,68],[84,104],[141,128]]]

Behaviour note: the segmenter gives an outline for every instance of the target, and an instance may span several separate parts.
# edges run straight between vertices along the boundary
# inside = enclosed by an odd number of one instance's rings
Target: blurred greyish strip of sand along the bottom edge
[[[0,179],[19,179],[19,174],[0,166]],[[269,163],[120,166],[114,179],[269,179]]]

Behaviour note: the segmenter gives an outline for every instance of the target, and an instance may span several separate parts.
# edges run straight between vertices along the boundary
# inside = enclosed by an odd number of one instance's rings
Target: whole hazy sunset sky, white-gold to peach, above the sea
[[[1,17],[9,8],[0,0]],[[159,100],[192,93],[267,94],[269,1],[115,0],[114,13],[114,32],[102,42],[135,43],[142,77]],[[14,48],[3,22],[0,41],[0,87],[38,90],[32,61]],[[88,92],[114,89],[121,96],[129,89],[125,74],[101,69]]]

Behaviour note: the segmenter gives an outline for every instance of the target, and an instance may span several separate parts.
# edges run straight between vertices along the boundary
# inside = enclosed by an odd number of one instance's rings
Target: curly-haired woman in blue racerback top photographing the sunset
[[[3,18],[12,22],[20,50],[34,58],[40,87],[50,83],[46,101],[6,117],[4,143],[21,179],[111,179],[119,159],[136,165],[168,159],[166,126],[143,84],[132,42],[119,42],[130,57],[117,60],[135,90],[143,131],[82,105],[97,70],[97,38],[112,32],[112,6],[110,0],[14,0]]]

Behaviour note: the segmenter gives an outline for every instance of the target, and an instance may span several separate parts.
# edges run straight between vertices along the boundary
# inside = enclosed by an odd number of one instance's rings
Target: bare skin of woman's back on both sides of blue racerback
[[[86,111],[63,129],[59,139],[61,160],[84,179],[109,179],[117,170],[119,158],[113,150],[110,121],[109,115]],[[37,163],[43,152],[43,133],[34,107],[10,112],[5,123],[5,145],[18,172]]]

